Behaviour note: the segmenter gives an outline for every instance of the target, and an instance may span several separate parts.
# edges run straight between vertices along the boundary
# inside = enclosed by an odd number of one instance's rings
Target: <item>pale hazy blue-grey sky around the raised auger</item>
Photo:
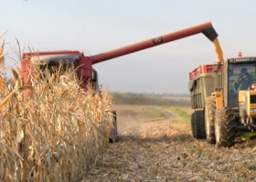
[[[78,50],[87,56],[211,22],[224,58],[256,56],[253,0],[0,0],[5,54]],[[3,41],[0,40],[1,42]],[[205,35],[155,46],[96,64],[100,85],[112,92],[189,94],[188,74],[217,61]],[[6,66],[15,66],[6,58]]]

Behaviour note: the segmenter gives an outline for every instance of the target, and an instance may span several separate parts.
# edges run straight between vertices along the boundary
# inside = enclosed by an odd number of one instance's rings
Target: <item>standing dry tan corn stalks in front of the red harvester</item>
[[[1,37],[0,37],[1,38]],[[6,81],[0,49],[0,180],[80,181],[95,164],[112,129],[112,100],[88,92],[72,71],[61,75],[34,66],[32,85],[20,69]]]

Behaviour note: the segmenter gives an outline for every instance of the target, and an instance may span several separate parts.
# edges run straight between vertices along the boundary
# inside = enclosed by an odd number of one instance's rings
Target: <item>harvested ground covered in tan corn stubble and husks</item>
[[[120,141],[83,181],[256,181],[255,140],[217,148],[193,138],[176,113],[137,118],[144,107],[115,106]]]

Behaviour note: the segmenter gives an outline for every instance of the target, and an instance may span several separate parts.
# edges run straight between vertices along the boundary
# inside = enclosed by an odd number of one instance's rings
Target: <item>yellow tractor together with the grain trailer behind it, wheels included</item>
[[[256,57],[235,57],[189,73],[192,135],[231,147],[237,132],[256,130]]]

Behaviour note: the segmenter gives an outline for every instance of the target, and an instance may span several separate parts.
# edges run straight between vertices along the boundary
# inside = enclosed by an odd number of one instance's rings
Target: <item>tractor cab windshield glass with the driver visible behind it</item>
[[[229,64],[229,106],[238,106],[238,93],[240,90],[247,90],[255,83],[256,65]]]

